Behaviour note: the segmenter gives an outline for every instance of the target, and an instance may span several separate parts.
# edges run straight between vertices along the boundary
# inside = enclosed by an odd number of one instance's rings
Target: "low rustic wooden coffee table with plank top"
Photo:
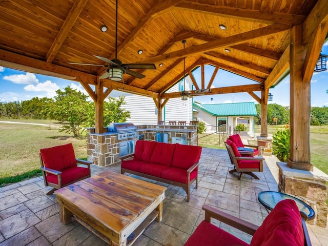
[[[55,191],[64,224],[72,216],[110,245],[131,245],[162,219],[166,187],[106,171]]]

